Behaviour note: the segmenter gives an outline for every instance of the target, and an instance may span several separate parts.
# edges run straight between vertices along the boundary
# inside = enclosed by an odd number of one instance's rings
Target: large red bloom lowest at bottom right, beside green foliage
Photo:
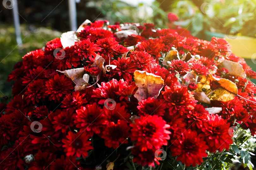
[[[205,141],[198,137],[196,131],[191,129],[186,130],[177,140],[172,140],[171,151],[172,156],[178,156],[177,161],[185,163],[186,166],[192,164],[193,167],[196,164],[203,162],[202,157],[206,157],[205,152],[208,146]]]

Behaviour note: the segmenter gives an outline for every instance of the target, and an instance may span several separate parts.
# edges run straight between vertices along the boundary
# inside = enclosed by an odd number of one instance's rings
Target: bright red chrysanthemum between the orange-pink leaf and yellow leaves
[[[168,86],[164,87],[165,91],[162,91],[162,95],[167,102],[170,115],[178,112],[183,115],[185,110],[194,109],[196,106],[195,98],[188,93],[187,88],[181,86],[175,86],[170,88]]]

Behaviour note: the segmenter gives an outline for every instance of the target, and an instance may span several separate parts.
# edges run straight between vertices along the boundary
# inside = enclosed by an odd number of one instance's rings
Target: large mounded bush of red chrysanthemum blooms
[[[158,149],[196,166],[206,151],[229,149],[234,123],[256,134],[256,87],[250,81],[256,73],[232,53],[227,41],[204,41],[187,30],[160,30],[153,24],[107,23],[83,26],[75,32],[76,42],[67,47],[55,38],[14,66],[9,75],[14,98],[0,105],[0,169],[89,170],[114,160],[115,167],[124,169],[130,154],[137,164],[157,166]],[[129,25],[138,28],[137,34],[126,30]],[[62,50],[56,53],[58,48]],[[179,58],[162,67],[164,56],[174,48]],[[96,61],[97,56],[104,62]],[[241,65],[246,76],[230,74],[223,61]],[[79,91],[77,74],[60,72],[76,68],[84,68],[82,80],[83,75],[89,77]],[[136,70],[163,80],[158,96],[138,101]],[[189,72],[195,74],[194,82],[182,80]],[[200,77],[210,74],[236,83],[239,96],[210,104],[196,100]],[[221,111],[205,110],[215,107]]]

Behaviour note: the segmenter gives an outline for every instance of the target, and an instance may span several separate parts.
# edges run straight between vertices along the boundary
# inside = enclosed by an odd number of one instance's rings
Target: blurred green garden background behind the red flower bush
[[[76,0],[77,25],[85,19],[115,22],[154,23],[168,28],[168,13],[179,20],[173,27],[183,27],[193,36],[209,40],[211,36],[256,38],[256,0]],[[206,4],[205,4],[206,3]],[[0,8],[0,100],[11,97],[12,82],[7,82],[13,66],[27,52],[43,47],[47,41],[70,30],[67,0],[18,0],[22,46],[15,40],[11,9]],[[233,28],[233,32],[230,31]],[[229,30],[229,31],[228,31]],[[210,33],[210,34],[209,34]],[[241,46],[241,48],[245,48]],[[256,48],[253,53],[256,52]],[[256,70],[255,58],[247,64]],[[256,83],[256,82],[255,82]]]

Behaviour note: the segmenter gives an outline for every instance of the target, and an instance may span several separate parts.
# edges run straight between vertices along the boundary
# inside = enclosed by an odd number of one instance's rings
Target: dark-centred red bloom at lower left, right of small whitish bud
[[[88,150],[93,149],[91,146],[91,142],[87,141],[89,136],[84,133],[76,133],[73,132],[68,133],[66,136],[67,139],[63,139],[62,142],[64,143],[63,147],[65,148],[64,151],[66,152],[67,156],[76,155],[76,157],[83,157],[88,156]]]

